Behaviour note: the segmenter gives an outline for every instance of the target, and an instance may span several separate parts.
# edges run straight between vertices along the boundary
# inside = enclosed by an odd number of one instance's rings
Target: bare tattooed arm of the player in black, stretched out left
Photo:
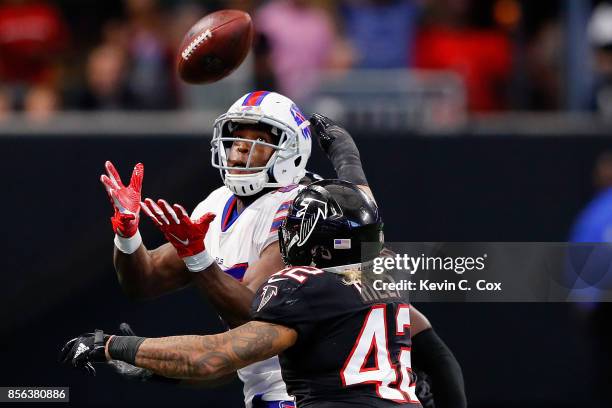
[[[215,379],[277,355],[296,340],[293,329],[252,321],[213,336],[146,339],[136,365],[165,377]]]

